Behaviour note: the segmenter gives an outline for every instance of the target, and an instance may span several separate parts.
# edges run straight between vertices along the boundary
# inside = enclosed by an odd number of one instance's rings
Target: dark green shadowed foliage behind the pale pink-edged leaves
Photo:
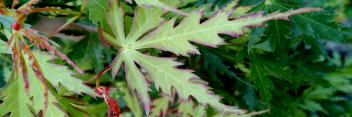
[[[26,0],[22,0],[25,2]],[[102,10],[108,8],[106,0],[91,0],[87,6],[86,17],[77,24],[101,27],[109,31]],[[167,0],[162,0],[167,1]],[[189,0],[191,4],[180,9],[204,9],[205,14],[213,14],[231,0]],[[248,12],[264,11],[266,14],[275,11],[287,11],[300,7],[319,7],[324,11],[296,15],[290,21],[275,20],[265,27],[247,29],[245,36],[234,38],[222,36],[227,45],[210,48],[198,45],[201,55],[190,58],[178,57],[185,61],[182,68],[194,69],[195,73],[209,82],[213,91],[222,96],[223,103],[236,105],[248,111],[270,109],[270,112],[259,116],[352,116],[352,1],[351,0],[241,0],[240,5],[253,5]],[[7,2],[7,1],[6,1]],[[80,0],[42,0],[36,7],[60,7],[79,10]],[[8,2],[11,4],[11,2]],[[91,6],[90,6],[91,5]],[[105,7],[103,7],[105,6]],[[133,14],[135,4],[124,5]],[[94,12],[94,14],[92,14]],[[101,16],[100,16],[101,15]],[[168,14],[170,17],[176,14]],[[61,16],[57,13],[32,14],[27,23],[36,25],[39,16],[50,16],[66,20],[72,16]],[[89,19],[90,18],[90,19]],[[132,22],[127,15],[126,23]],[[129,29],[129,27],[126,27]],[[84,36],[80,41],[59,37],[51,38],[61,45],[60,50],[85,71],[76,75],[83,80],[93,77],[104,66],[111,63],[116,51],[104,45],[97,33],[85,30],[63,30],[67,35]],[[2,36],[3,37],[3,36]],[[156,49],[146,49],[152,55],[169,57],[171,53]],[[57,60],[55,63],[64,63]],[[11,69],[11,58],[0,56],[0,87],[8,82]],[[143,115],[133,98],[126,98],[126,83],[120,71],[114,80],[109,74],[102,77],[106,86],[117,87],[113,97],[119,100],[124,116]],[[93,84],[92,84],[93,85]],[[64,93],[66,89],[62,89]],[[130,96],[132,94],[128,94]],[[152,90],[153,99],[160,97],[157,90]],[[93,116],[105,116],[106,106],[102,99],[89,96],[77,96],[84,106],[76,106]],[[70,100],[62,99],[62,100]],[[71,100],[75,102],[75,100]],[[78,103],[78,102],[75,102]],[[137,103],[137,104],[136,104]],[[67,103],[68,104],[68,103]],[[133,105],[134,104],[134,105]],[[171,106],[176,108],[177,104]],[[60,105],[64,110],[65,103]],[[134,108],[133,108],[134,107]],[[172,112],[170,112],[172,113]],[[207,109],[208,116],[215,115],[214,109]],[[72,115],[81,112],[73,112]]]

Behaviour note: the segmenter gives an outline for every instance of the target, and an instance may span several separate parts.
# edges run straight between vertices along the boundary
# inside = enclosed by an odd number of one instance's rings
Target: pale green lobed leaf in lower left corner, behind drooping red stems
[[[67,68],[48,63],[49,60],[54,59],[53,56],[44,53],[36,53],[35,58],[39,61],[41,68],[44,68],[42,69],[44,77],[53,86],[59,87],[62,85],[71,92],[76,92],[78,94],[83,92],[91,96],[96,96],[94,90],[83,85],[81,80],[73,78],[71,76],[72,72]],[[40,111],[43,111],[45,112],[45,116],[64,117],[66,114],[57,107],[56,103],[58,103],[58,101],[50,92],[48,94],[48,105],[45,107],[45,87],[32,70],[32,66],[29,64],[30,61],[27,56],[25,56],[25,61],[30,86],[28,92],[29,95],[27,96],[25,91],[22,75],[14,76],[14,78],[12,78],[14,83],[8,84],[9,87],[5,88],[1,93],[1,98],[3,98],[4,103],[0,105],[0,110],[2,110],[0,114],[4,115],[11,112],[11,116],[14,117],[22,116],[22,114],[24,114],[23,116],[33,116],[33,114],[38,114]],[[13,97],[11,100],[17,99],[17,96],[21,99],[17,101],[7,100],[9,97]],[[17,109],[13,109],[17,108],[17,106],[24,107],[17,112]],[[10,110],[7,110],[6,108]],[[31,112],[31,110],[34,110],[33,114],[27,113],[28,111]]]

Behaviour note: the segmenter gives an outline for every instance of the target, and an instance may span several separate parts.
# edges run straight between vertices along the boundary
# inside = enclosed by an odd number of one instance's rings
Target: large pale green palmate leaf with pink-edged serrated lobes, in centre
[[[100,36],[103,40],[109,42],[116,48],[119,48],[119,53],[112,63],[112,74],[115,75],[124,63],[127,75],[127,81],[130,89],[137,92],[139,100],[144,105],[144,109],[148,114],[150,111],[150,97],[148,95],[149,83],[144,78],[144,74],[137,67],[136,63],[141,68],[147,71],[151,80],[154,82],[157,89],[166,95],[172,95],[172,87],[176,90],[180,100],[189,100],[190,96],[194,97],[202,105],[211,105],[222,112],[232,112],[243,114],[244,111],[236,108],[231,108],[220,103],[220,97],[214,95],[210,88],[207,87],[207,82],[201,80],[191,70],[178,69],[177,66],[182,65],[174,59],[149,56],[138,52],[138,49],[157,48],[165,51],[173,52],[177,55],[188,56],[189,53],[199,53],[198,49],[190,43],[196,42],[202,45],[217,47],[224,44],[224,41],[218,34],[228,34],[231,36],[239,36],[243,34],[242,28],[261,26],[263,22],[275,19],[288,19],[288,16],[306,13],[311,11],[319,11],[315,8],[302,8],[290,10],[285,13],[275,12],[263,16],[262,12],[249,14],[235,20],[229,20],[229,12],[218,12],[211,19],[200,23],[202,18],[201,12],[192,12],[183,21],[175,27],[175,20],[151,20],[160,19],[162,13],[157,9],[148,9],[140,7],[136,11],[135,21],[132,25],[131,32],[134,30],[140,33],[130,33],[127,40],[124,38],[123,25],[124,20],[122,9],[118,7],[116,1],[112,1],[112,7],[108,18],[110,25],[115,32],[111,36],[106,31],[100,30]],[[143,14],[143,10],[148,14]],[[146,13],[146,12],[144,12]],[[140,16],[145,15],[145,16]],[[111,21],[112,19],[118,21]],[[150,20],[150,21],[147,21]],[[150,22],[142,23],[138,22]],[[151,23],[152,22],[152,23]],[[160,23],[162,22],[162,23]],[[160,23],[160,24],[159,24]],[[158,26],[158,24],[160,26]],[[116,28],[117,27],[117,28]],[[155,30],[153,30],[155,28]],[[147,36],[145,32],[152,30]],[[117,33],[116,33],[117,32]],[[141,38],[140,40],[138,40]]]

